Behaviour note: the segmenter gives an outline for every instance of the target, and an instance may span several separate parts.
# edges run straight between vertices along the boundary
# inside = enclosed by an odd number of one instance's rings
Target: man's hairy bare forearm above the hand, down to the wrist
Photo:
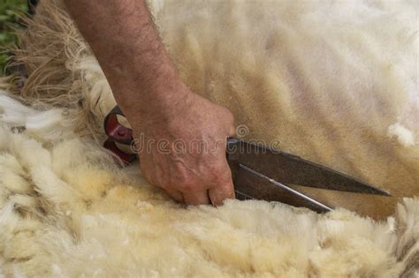
[[[171,109],[186,97],[172,89],[180,81],[145,0],[65,0],[65,5],[128,118]]]

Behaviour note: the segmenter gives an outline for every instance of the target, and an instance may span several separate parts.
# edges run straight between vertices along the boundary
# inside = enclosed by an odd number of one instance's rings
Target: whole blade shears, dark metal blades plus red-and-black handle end
[[[120,124],[119,120],[123,116],[121,109],[116,106],[105,117],[104,130],[108,139],[103,147],[109,149],[125,164],[130,164],[137,159],[137,155],[121,149],[121,145],[133,144],[133,131]],[[295,207],[308,207],[324,213],[331,211],[332,207],[297,191],[290,184],[340,192],[391,196],[380,188],[337,170],[242,139],[227,139],[226,158],[232,170],[237,199],[281,201]]]

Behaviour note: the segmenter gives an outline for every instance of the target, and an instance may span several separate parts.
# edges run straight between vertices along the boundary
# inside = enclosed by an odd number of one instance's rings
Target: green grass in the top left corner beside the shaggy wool
[[[5,49],[18,43],[13,29],[19,27],[19,14],[27,12],[26,0],[0,0],[0,76],[10,54]]]

